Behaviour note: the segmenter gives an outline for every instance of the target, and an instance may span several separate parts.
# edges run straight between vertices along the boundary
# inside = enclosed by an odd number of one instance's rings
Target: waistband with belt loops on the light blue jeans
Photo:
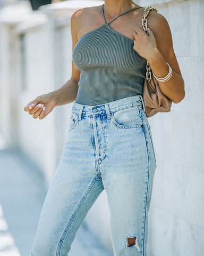
[[[107,118],[111,118],[110,113],[114,111],[129,108],[129,107],[141,107],[145,111],[145,105],[143,102],[142,95],[135,95],[131,97],[122,98],[120,100],[111,101],[105,104],[89,106],[82,105],[77,102],[73,102],[72,105],[72,113],[79,114],[79,120],[81,120],[81,116],[98,116],[98,115],[107,115]]]

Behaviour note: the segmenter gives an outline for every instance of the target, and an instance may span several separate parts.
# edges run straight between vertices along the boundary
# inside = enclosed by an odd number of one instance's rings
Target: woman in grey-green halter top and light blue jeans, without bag
[[[163,15],[131,0],[105,0],[71,17],[72,76],[24,110],[45,118],[73,102],[67,141],[41,211],[32,256],[62,256],[105,188],[115,256],[146,256],[148,210],[156,158],[142,100],[146,60],[163,93],[184,98],[184,81]],[[169,67],[168,66],[168,64]]]

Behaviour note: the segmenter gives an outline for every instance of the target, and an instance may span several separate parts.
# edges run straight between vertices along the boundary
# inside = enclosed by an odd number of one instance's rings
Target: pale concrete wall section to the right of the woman
[[[204,252],[204,1],[138,1],[167,19],[185,82],[185,99],[149,118],[157,170],[149,211],[149,256]],[[168,2],[167,4],[162,4]],[[156,3],[161,3],[156,5]]]

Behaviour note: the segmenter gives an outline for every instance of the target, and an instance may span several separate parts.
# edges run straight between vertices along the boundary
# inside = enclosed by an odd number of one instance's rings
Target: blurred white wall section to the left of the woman
[[[72,103],[54,108],[42,120],[32,118],[23,108],[70,79],[71,15],[81,7],[99,3],[65,1],[33,12],[29,2],[21,2],[0,11],[0,134],[7,148],[23,151],[36,163],[47,186],[60,162]]]

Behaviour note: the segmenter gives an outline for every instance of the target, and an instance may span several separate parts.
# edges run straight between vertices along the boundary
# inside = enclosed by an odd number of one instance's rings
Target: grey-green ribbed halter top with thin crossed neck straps
[[[137,7],[118,15],[131,12]],[[146,77],[146,59],[134,49],[134,41],[104,25],[83,35],[72,53],[75,67],[81,72],[75,102],[103,105],[134,95],[141,95]]]

